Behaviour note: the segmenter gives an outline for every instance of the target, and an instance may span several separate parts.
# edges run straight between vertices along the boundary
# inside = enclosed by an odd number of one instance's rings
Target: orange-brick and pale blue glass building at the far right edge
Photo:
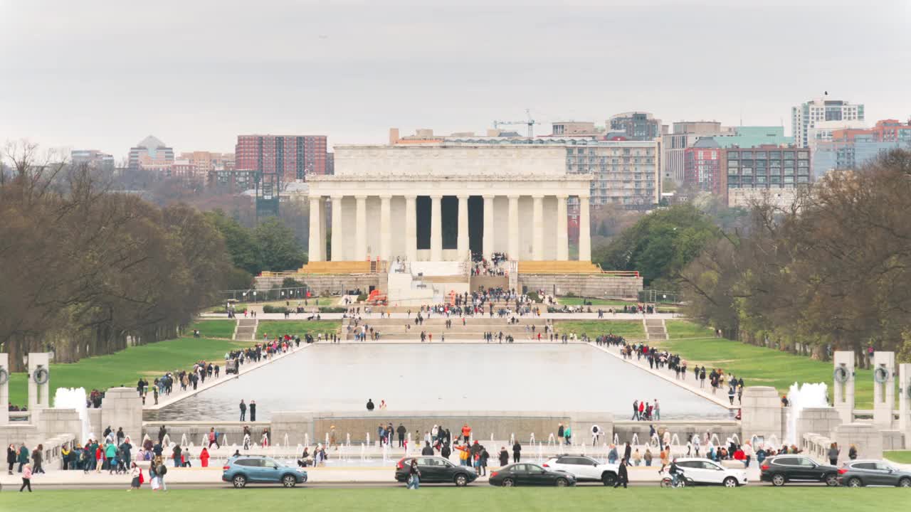
[[[813,176],[821,179],[834,169],[858,169],[885,151],[911,149],[911,121],[877,121],[874,128],[832,130],[828,140],[818,140],[813,151]]]

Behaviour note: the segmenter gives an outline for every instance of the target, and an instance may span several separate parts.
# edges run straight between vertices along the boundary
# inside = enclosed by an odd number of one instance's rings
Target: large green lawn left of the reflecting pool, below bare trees
[[[177,368],[189,369],[200,359],[220,361],[231,347],[250,344],[251,342],[206,338],[179,338],[128,347],[118,353],[87,357],[73,364],[51,364],[51,400],[58,387],[84,387],[87,392],[93,388],[107,389],[120,384],[134,387],[140,375],[152,377]],[[25,373],[10,376],[11,404],[26,404],[27,385]]]

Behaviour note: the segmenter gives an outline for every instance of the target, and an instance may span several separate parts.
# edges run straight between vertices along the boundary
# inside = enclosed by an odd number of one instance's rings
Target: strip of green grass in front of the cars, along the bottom
[[[126,487],[125,483],[125,487]],[[569,488],[502,488],[471,486],[421,487],[412,492],[390,488],[180,489],[170,484],[167,493],[154,495],[143,489],[41,490],[32,494],[0,493],[0,510],[32,512],[91,510],[115,512],[128,508],[156,510],[370,510],[370,511],[469,511],[478,510],[647,510],[679,512],[718,505],[736,512],[824,510],[825,512],[886,512],[911,506],[911,492],[900,488],[746,486],[737,489],[695,487],[662,489],[657,486],[613,489],[602,486]],[[725,505],[727,504],[727,505]],[[779,508],[780,507],[780,508]]]

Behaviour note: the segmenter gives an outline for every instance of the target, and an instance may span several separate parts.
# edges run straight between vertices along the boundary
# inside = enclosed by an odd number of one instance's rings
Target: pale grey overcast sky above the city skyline
[[[907,120],[909,27],[906,0],[0,0],[0,142],[118,159],[149,134],[178,152],[382,143],[526,108],[537,133],[628,110],[790,132],[824,90]]]

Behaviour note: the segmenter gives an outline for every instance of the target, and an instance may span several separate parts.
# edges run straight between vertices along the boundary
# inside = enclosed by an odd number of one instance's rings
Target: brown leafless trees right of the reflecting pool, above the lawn
[[[820,359],[874,347],[911,361],[908,198],[911,152],[897,149],[826,174],[786,208],[757,204],[680,272],[688,313]]]

